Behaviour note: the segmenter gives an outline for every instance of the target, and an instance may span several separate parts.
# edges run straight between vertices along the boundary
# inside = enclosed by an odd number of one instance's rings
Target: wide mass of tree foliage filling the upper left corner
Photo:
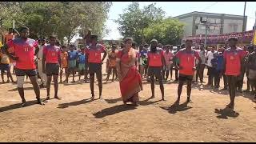
[[[102,37],[112,2],[0,2],[2,29],[8,30],[15,20],[17,26],[28,26],[32,38],[56,34],[68,42],[85,30]]]

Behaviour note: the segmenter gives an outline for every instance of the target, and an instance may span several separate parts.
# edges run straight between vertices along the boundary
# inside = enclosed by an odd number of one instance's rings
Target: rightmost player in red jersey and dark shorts
[[[237,78],[241,74],[242,58],[246,56],[246,52],[236,46],[238,38],[229,38],[228,42],[230,48],[226,49],[223,54],[224,70],[230,93],[230,104],[226,106],[233,110]]]

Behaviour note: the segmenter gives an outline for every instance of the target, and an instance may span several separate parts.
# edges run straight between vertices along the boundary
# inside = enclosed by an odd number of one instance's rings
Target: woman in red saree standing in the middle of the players
[[[125,39],[125,47],[118,51],[117,68],[122,101],[138,106],[138,92],[142,90],[142,78],[138,73],[138,52],[132,47],[133,39]]]

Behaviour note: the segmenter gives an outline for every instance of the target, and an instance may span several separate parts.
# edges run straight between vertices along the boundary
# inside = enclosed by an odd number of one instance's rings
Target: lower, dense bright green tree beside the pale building
[[[178,19],[166,18],[162,22],[152,24],[144,30],[147,42],[155,38],[162,44],[177,45],[182,38],[185,24]]]

